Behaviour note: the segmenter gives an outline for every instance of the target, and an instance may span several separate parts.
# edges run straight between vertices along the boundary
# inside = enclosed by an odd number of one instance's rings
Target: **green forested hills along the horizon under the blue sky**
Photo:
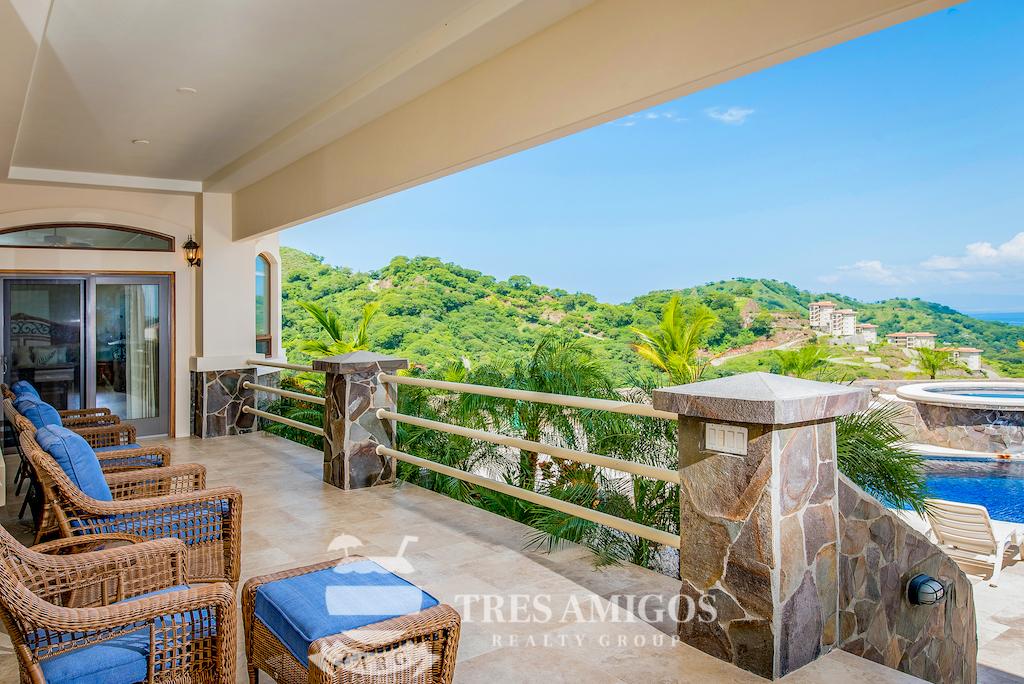
[[[536,285],[525,275],[500,281],[432,257],[398,256],[380,270],[366,273],[331,266],[322,257],[287,247],[281,254],[284,342],[294,359],[303,358],[294,349],[298,340],[319,336],[299,301],[316,302],[353,328],[362,306],[379,302],[380,312],[370,329],[372,347],[428,368],[461,357],[478,364],[523,355],[542,335],[564,331],[588,337],[614,376],[625,380],[644,369],[630,349],[635,339],[630,328],[654,325],[673,294],[657,291],[624,304],[608,304],[589,294]],[[703,301],[718,315],[708,340],[714,351],[771,335],[773,318],[786,313],[802,317],[807,304],[821,296],[787,283],[748,279],[680,292]],[[883,333],[930,330],[943,342],[979,346],[1024,369],[1024,354],[1016,351],[1024,329],[979,320],[920,300],[866,304],[838,294],[825,296],[858,309],[862,320],[878,324]]]

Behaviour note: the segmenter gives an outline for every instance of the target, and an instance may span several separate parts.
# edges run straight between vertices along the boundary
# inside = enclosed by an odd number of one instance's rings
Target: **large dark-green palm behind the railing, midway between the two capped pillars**
[[[524,359],[483,366],[467,373],[466,382],[492,387],[570,394],[574,396],[611,397],[614,388],[603,365],[594,357],[582,338],[548,335],[541,338]],[[570,448],[575,448],[593,412],[573,411],[537,401],[499,399],[478,394],[461,394],[454,407],[459,424],[479,423],[481,417],[501,431],[511,431],[523,439],[541,441],[556,436]],[[518,473],[519,486],[535,488],[538,475],[538,453],[521,450]]]

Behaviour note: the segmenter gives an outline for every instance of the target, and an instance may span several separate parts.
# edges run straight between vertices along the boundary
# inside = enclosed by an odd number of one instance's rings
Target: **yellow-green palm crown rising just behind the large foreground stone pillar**
[[[667,373],[672,384],[696,382],[708,367],[697,351],[717,322],[709,307],[698,304],[686,311],[679,295],[673,295],[656,327],[630,329],[640,338],[633,350]]]

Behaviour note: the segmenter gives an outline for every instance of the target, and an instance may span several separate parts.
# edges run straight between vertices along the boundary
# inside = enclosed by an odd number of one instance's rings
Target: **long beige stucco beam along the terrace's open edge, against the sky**
[[[289,227],[729,81],[955,0],[597,0],[236,195]]]

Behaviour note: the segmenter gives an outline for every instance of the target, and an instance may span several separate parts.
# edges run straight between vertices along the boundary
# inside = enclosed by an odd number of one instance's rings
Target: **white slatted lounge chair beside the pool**
[[[992,563],[992,576],[988,580],[992,587],[999,581],[1008,546],[1016,546],[1020,559],[1024,560],[1024,524],[993,521],[984,506],[940,499],[928,500],[926,514],[936,542],[952,550],[951,556],[967,555],[968,560]]]

